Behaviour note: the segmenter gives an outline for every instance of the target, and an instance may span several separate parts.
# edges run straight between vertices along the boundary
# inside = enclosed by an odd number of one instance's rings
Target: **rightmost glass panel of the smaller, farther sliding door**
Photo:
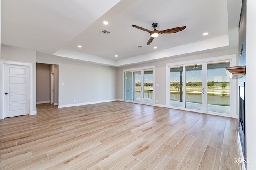
[[[153,70],[143,70],[143,102],[153,104]]]

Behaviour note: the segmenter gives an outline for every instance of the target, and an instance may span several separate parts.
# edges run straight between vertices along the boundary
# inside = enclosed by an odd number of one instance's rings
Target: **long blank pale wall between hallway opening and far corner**
[[[36,61],[59,66],[59,107],[116,99],[117,68],[43,53],[37,53]]]

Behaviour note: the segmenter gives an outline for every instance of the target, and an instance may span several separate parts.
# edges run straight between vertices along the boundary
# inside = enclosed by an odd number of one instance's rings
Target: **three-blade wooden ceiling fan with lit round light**
[[[153,41],[153,39],[154,39],[155,37],[158,37],[158,35],[160,35],[160,34],[176,33],[176,32],[182,31],[183,29],[186,28],[186,26],[183,26],[183,27],[176,27],[176,28],[171,28],[171,29],[166,29],[166,30],[160,31],[160,30],[156,30],[157,23],[153,23],[153,24],[152,24],[152,27],[154,28],[153,31],[150,31],[150,30],[148,30],[148,29],[139,27],[139,26],[137,26],[137,25],[132,25],[132,27],[141,29],[142,31],[147,31],[147,32],[150,34],[150,39],[148,40],[147,45],[149,45],[149,44]]]

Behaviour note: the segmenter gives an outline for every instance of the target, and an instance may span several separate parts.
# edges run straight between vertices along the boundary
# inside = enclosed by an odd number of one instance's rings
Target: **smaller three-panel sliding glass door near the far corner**
[[[124,100],[153,104],[153,69],[124,72]]]

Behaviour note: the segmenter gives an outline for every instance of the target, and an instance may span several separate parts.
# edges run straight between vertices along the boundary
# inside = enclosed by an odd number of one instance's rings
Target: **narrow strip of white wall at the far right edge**
[[[256,167],[256,1],[247,0],[246,35],[246,139],[247,169]]]

